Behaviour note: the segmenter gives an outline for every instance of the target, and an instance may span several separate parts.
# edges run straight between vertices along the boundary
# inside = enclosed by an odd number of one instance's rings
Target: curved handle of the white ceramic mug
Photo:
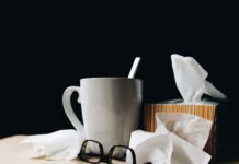
[[[67,117],[69,118],[70,122],[73,125],[75,129],[79,132],[84,132],[83,125],[80,122],[80,120],[77,118],[76,114],[73,113],[70,97],[73,92],[77,92],[79,97],[78,102],[80,103],[80,87],[79,86],[69,86],[64,91],[62,95],[62,104],[65,113],[67,114]]]

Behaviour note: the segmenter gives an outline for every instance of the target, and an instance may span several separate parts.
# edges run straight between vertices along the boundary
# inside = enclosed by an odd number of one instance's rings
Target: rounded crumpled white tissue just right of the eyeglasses
[[[135,151],[137,164],[170,164],[173,147],[167,136],[137,130],[132,132],[129,147]],[[127,153],[127,163],[132,164],[128,154],[130,153]]]

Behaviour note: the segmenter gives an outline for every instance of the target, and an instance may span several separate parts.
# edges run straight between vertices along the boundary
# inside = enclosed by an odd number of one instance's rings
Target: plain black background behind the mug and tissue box
[[[170,60],[177,52],[194,57],[229,97],[223,139],[239,144],[236,7],[140,1],[1,5],[0,137],[72,128],[61,105],[64,90],[79,85],[81,78],[126,77],[136,56],[141,57],[136,77],[144,80],[144,102],[179,98]]]

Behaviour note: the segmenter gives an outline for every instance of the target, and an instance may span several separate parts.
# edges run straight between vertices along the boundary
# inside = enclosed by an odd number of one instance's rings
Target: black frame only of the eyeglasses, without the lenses
[[[94,143],[98,143],[99,148],[100,148],[100,159],[98,162],[90,162],[88,161],[87,159],[84,159],[83,156],[81,156],[83,154],[83,152],[86,152],[86,148],[87,148],[87,144],[88,142],[94,142]],[[86,161],[88,163],[92,163],[92,164],[98,164],[100,162],[105,162],[107,164],[112,164],[112,156],[113,156],[113,152],[114,152],[114,149],[115,148],[124,148],[124,149],[127,149],[130,151],[132,153],[132,159],[133,159],[133,164],[136,164],[136,155],[135,155],[135,151],[129,148],[129,147],[126,147],[126,145],[113,145],[110,151],[109,151],[109,154],[105,156],[104,155],[104,148],[103,145],[101,144],[101,142],[99,141],[95,141],[95,140],[84,140],[82,145],[81,145],[81,150],[80,150],[80,153],[78,154],[78,157],[81,159],[82,161]]]

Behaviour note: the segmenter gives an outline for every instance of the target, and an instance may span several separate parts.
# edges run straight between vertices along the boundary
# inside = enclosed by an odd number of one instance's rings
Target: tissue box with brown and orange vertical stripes
[[[217,108],[218,103],[212,101],[202,101],[198,104],[183,104],[182,99],[174,101],[166,101],[153,104],[145,105],[145,120],[144,120],[144,129],[146,131],[155,131],[157,128],[156,124],[156,113],[164,112],[164,113],[183,113],[200,116],[204,119],[212,120],[213,127],[210,130],[210,134],[208,141],[204,148],[204,151],[210,154],[214,159],[216,157],[216,118],[217,118]]]

